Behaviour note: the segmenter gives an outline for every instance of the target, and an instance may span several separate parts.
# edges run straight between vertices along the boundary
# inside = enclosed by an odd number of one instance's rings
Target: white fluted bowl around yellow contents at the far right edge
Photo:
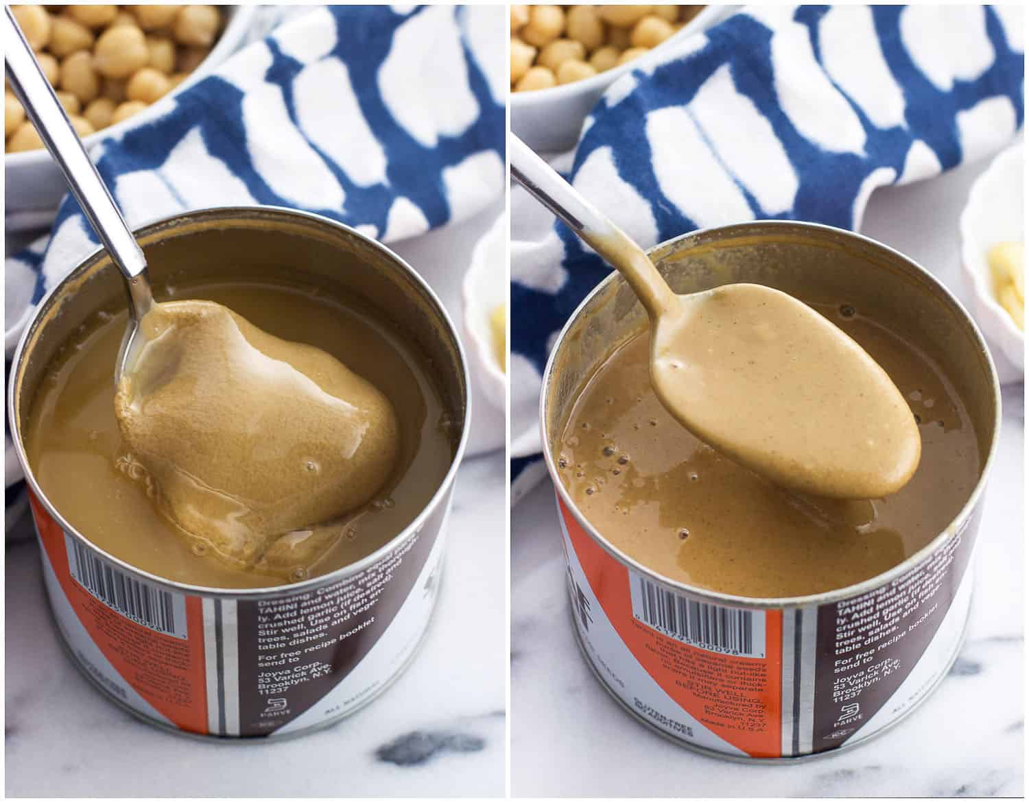
[[[1025,372],[1025,335],[993,294],[986,254],[997,243],[1025,240],[1022,144],[1019,140],[1001,151],[975,180],[960,222],[961,267],[971,293],[972,315],[990,345],[1017,371],[1012,379]],[[999,364],[997,370],[1005,373]]]

